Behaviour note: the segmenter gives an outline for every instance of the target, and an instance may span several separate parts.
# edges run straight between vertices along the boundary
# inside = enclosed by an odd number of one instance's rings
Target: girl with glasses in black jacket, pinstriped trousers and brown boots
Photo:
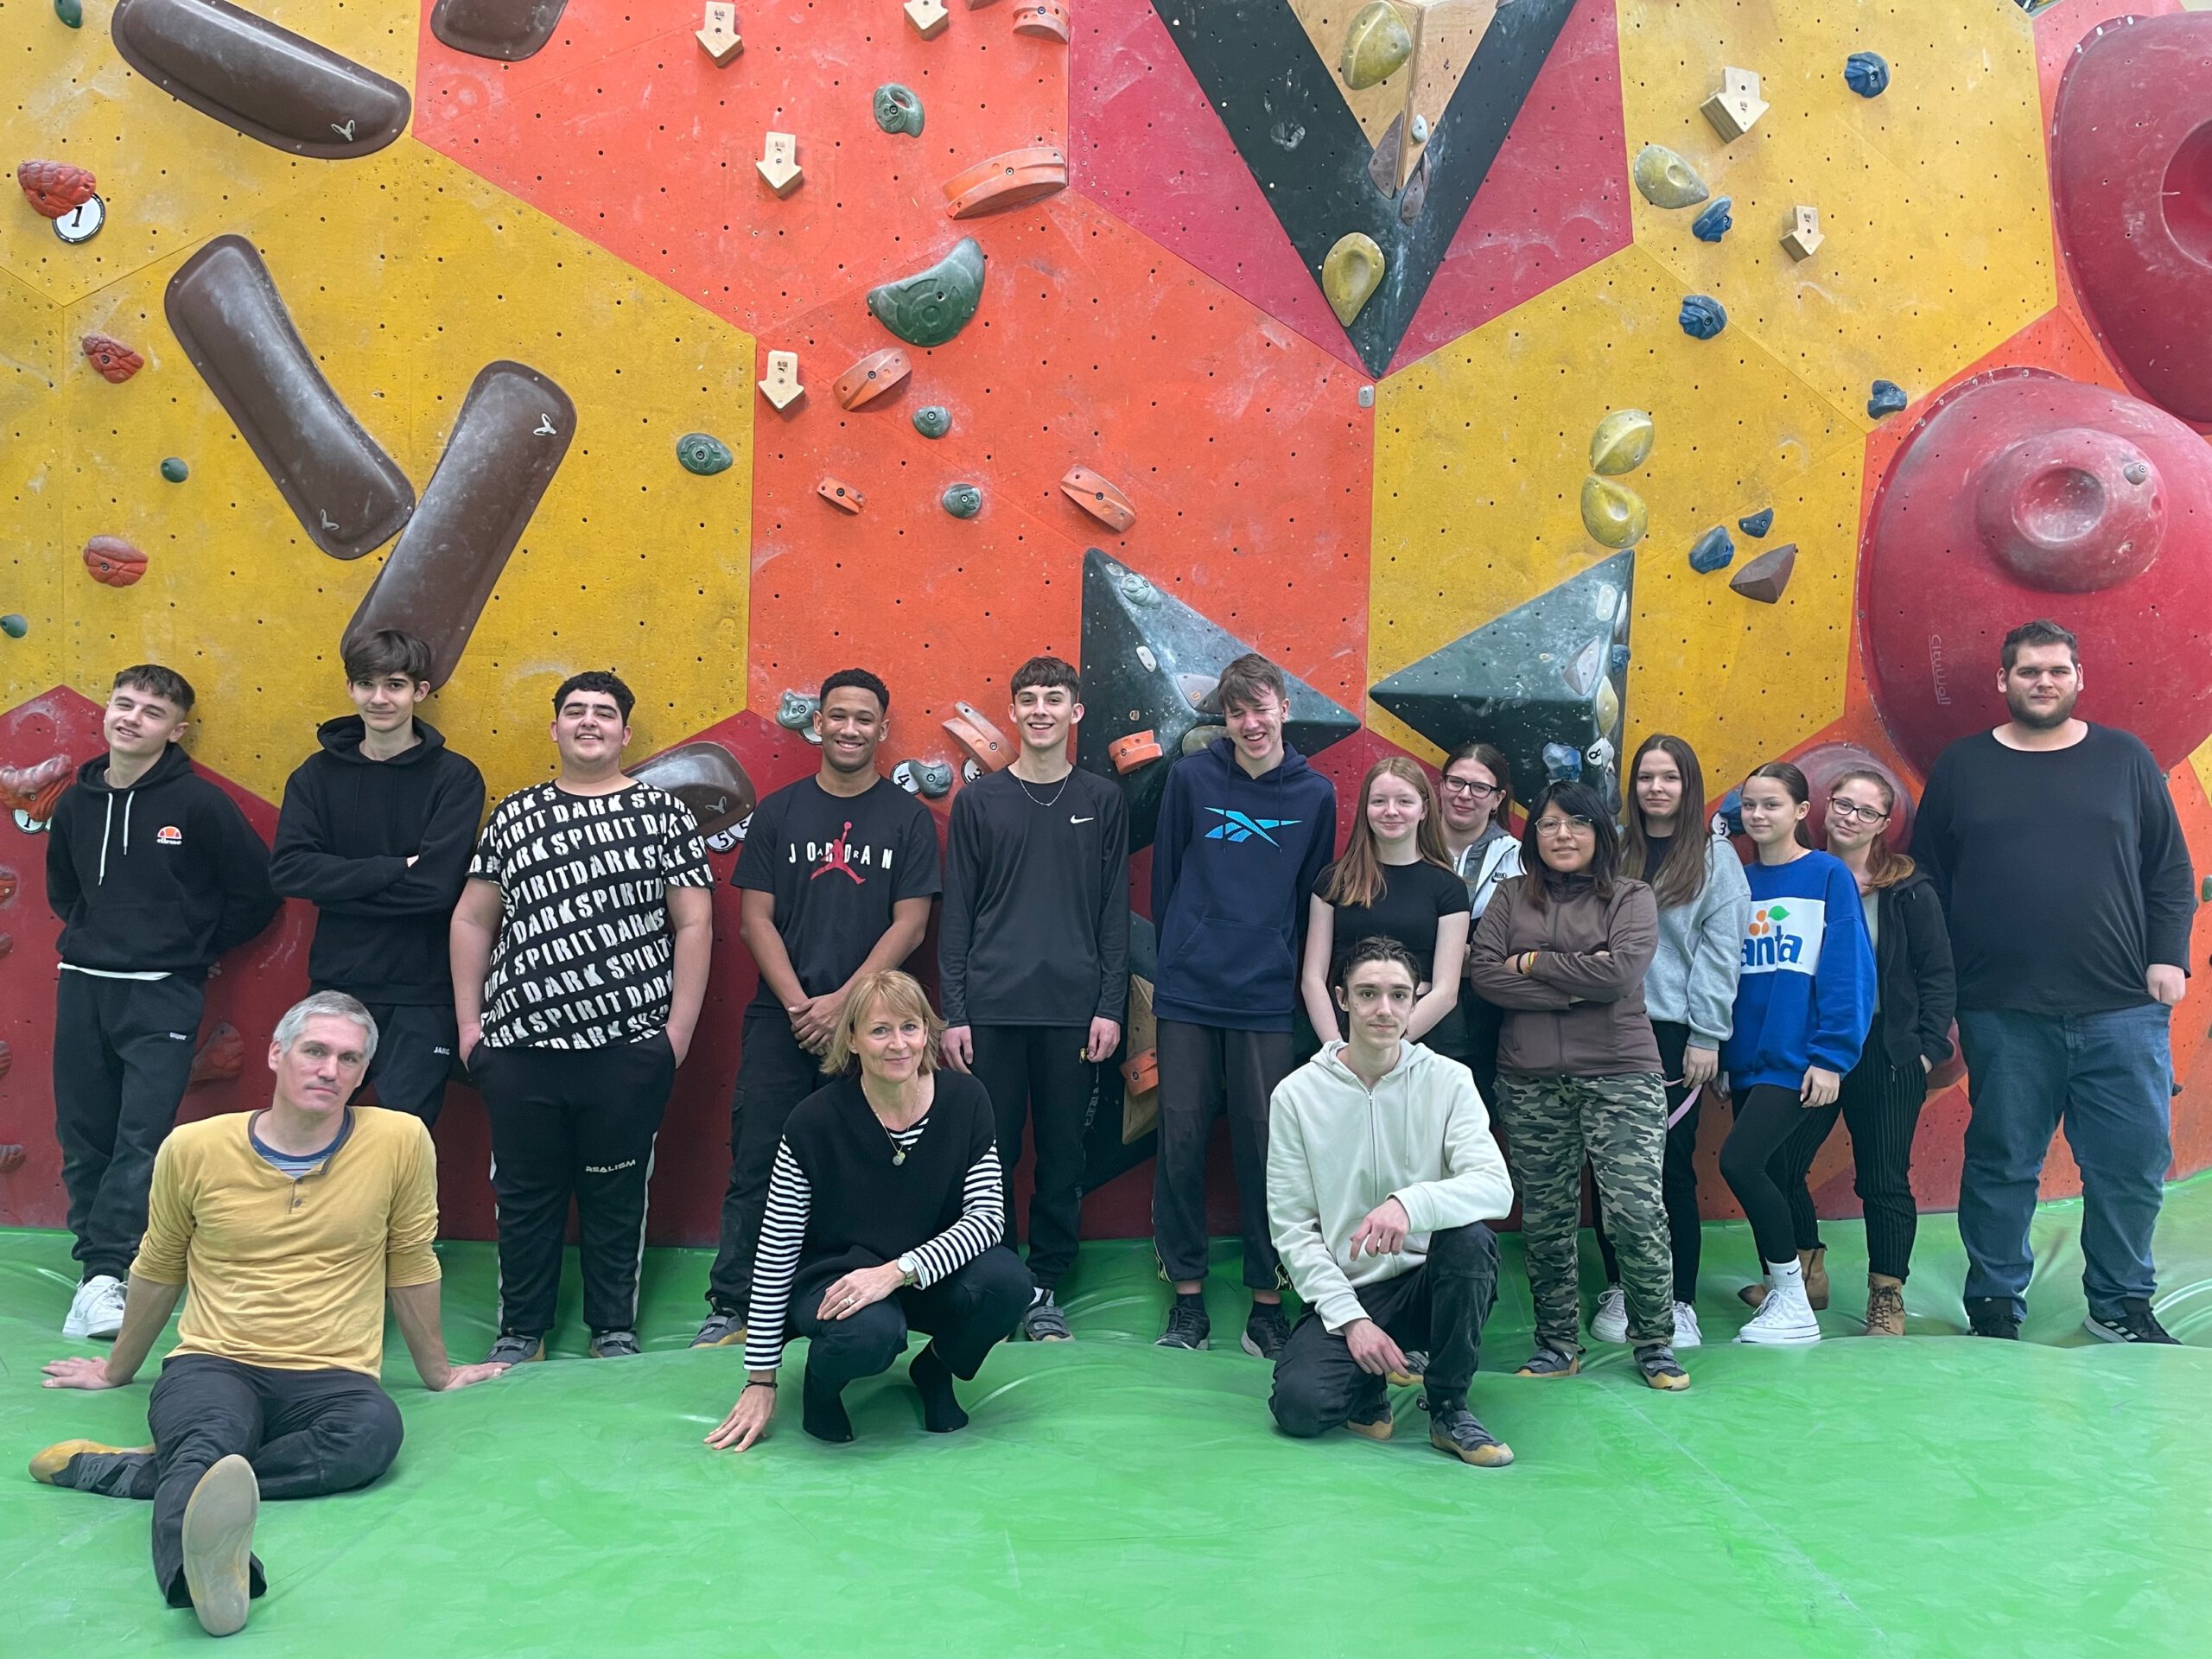
[[[1927,1102],[1929,1073],[1951,1057],[1958,982],[1951,931],[1936,887],[1889,845],[1896,790],[1880,772],[1845,772],[1827,792],[1827,849],[1858,880],[1858,902],[1874,942],[1874,1024],[1858,1064],[1843,1075],[1836,1104],[1798,1113],[1781,1150],[1781,1183],[1790,1197],[1798,1263],[1807,1296],[1820,1307],[1825,1248],[1805,1179],[1840,1115],[1851,1126],[1851,1183],[1867,1212],[1867,1336],[1905,1336],[1905,1279],[1911,1272],[1913,1130]],[[1745,1294],[1745,1301],[1752,1301]]]

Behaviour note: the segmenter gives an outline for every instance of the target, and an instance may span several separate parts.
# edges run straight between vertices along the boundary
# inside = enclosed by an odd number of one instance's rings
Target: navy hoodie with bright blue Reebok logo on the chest
[[[1290,1031],[1305,896],[1336,849],[1336,785],[1294,748],[1261,776],[1217,737],[1168,772],[1152,836],[1152,1013]]]

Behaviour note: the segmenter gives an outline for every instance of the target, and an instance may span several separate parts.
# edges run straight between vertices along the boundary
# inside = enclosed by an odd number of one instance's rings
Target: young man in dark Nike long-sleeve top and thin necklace
[[[1115,783],[1068,761],[1068,734],[1084,717],[1068,664],[1031,657],[1013,672],[1011,697],[1022,752],[953,799],[938,980],[945,1060],[982,1082],[998,1119],[1009,1248],[1013,1168],[1035,1117],[1029,1272],[1037,1287],[1022,1334],[1064,1343],[1073,1332],[1053,1287],[1075,1265],[1084,1119],[1128,1002],[1128,810]]]

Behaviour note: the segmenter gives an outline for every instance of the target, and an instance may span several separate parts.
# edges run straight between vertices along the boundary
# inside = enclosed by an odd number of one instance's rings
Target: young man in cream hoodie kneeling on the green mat
[[[1360,940],[1327,1042],[1270,1102],[1267,1221],[1305,1318],[1274,1365],[1267,1407],[1285,1433],[1343,1425],[1389,1440],[1389,1380],[1427,1371],[1429,1444],[1498,1469],[1513,1451],[1467,1409],[1482,1321],[1498,1298],[1498,1239],[1513,1208],[1475,1079],[1407,1042],[1418,973],[1402,945]],[[1407,1363],[1407,1349],[1427,1349]]]

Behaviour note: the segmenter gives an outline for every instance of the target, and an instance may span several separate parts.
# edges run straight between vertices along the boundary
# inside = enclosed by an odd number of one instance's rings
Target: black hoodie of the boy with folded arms
[[[270,878],[316,907],[316,991],[445,1004],[447,925],[484,821],[484,774],[422,721],[422,741],[389,761],[363,757],[363,734],[358,714],[316,728],[323,748],[283,785]]]

